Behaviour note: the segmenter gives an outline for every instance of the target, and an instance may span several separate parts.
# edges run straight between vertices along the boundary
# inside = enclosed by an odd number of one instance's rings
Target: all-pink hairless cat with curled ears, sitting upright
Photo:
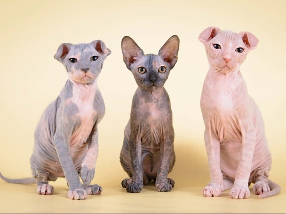
[[[205,29],[198,39],[210,66],[200,100],[211,178],[204,196],[230,189],[232,198],[248,198],[250,183],[261,198],[279,193],[280,186],[268,179],[272,158],[263,118],[239,70],[258,39],[217,27]]]

